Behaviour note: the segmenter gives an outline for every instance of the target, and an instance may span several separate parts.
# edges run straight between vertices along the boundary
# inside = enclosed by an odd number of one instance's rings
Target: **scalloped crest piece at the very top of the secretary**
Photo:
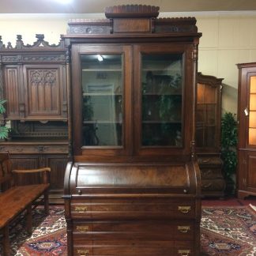
[[[114,17],[157,17],[159,14],[158,6],[126,5],[110,6],[105,9],[107,18]]]

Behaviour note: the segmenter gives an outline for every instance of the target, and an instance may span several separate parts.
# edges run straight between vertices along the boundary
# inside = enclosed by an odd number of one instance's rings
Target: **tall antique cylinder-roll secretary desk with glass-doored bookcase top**
[[[69,255],[198,255],[194,18],[114,6],[69,22]]]

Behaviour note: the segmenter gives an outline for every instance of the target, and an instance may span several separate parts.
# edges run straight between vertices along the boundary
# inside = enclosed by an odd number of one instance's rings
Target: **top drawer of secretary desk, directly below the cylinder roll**
[[[127,219],[127,218],[183,218],[195,216],[195,205],[191,200],[162,200],[145,198],[130,199],[85,199],[71,202],[74,219]]]

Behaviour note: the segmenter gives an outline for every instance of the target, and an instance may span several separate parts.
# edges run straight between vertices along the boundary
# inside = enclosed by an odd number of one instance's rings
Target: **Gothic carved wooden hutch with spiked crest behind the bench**
[[[36,35],[33,45],[21,36],[13,47],[0,38],[0,93],[6,99],[1,122],[11,128],[0,141],[0,152],[9,151],[13,168],[51,168],[51,202],[62,201],[68,156],[66,47],[49,45]],[[21,184],[33,183],[21,178]]]

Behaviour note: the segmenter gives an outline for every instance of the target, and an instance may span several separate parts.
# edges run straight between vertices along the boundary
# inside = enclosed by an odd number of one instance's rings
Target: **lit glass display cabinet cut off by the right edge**
[[[256,63],[241,63],[238,98],[237,196],[256,195]]]

